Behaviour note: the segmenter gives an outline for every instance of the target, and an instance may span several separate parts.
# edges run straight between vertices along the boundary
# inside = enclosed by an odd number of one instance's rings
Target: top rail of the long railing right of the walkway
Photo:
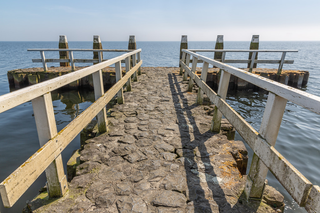
[[[238,78],[241,78],[245,81],[248,81],[254,85],[257,85],[258,87],[261,87],[269,92],[272,92],[276,95],[279,95],[289,101],[292,101],[293,103],[296,103],[308,110],[311,110],[313,112],[316,112],[317,114],[320,114],[320,97],[316,95],[312,95],[306,92],[303,92],[299,89],[289,87],[287,85],[268,80],[266,78],[263,78],[259,75],[246,72],[244,70],[235,68],[230,65],[226,65],[217,61],[214,61],[213,59],[200,56],[196,53],[193,53],[188,50],[186,51],[190,55],[196,55],[199,56],[200,59],[208,62],[209,64],[212,64],[216,67],[219,67],[220,69],[229,72],[232,75],[237,76]],[[1,97],[1,96],[0,96]]]

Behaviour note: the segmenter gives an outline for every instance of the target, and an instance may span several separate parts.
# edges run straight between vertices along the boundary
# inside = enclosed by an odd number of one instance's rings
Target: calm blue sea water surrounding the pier
[[[224,49],[248,49],[248,42],[225,42]],[[104,49],[127,49],[128,42],[102,42]],[[214,42],[188,42],[189,49],[213,49]],[[137,42],[142,49],[143,66],[178,66],[180,42]],[[42,63],[32,63],[32,58],[40,58],[39,52],[27,52],[27,49],[58,48],[58,42],[0,42],[0,95],[9,92],[7,71],[18,68],[42,67]],[[92,42],[69,42],[69,48],[91,49]],[[260,42],[260,49],[298,49],[298,53],[287,53],[286,59],[294,60],[284,69],[310,71],[309,83],[302,90],[320,96],[320,42]],[[122,53],[103,53],[104,58],[116,57]],[[213,54],[203,53],[208,57]],[[58,58],[58,52],[46,52],[46,58]],[[75,58],[92,58],[92,53],[74,52]],[[261,59],[280,59],[281,53],[259,53]],[[226,59],[247,59],[246,54],[227,53]],[[48,63],[48,66],[58,66]],[[76,64],[84,66],[91,64]],[[244,65],[235,65],[243,67]],[[278,65],[258,65],[258,67],[277,68]],[[52,93],[53,108],[58,131],[86,109],[94,95],[90,91],[72,91],[70,93]],[[227,101],[246,121],[259,130],[267,94],[246,92],[228,94]],[[312,113],[296,104],[288,102],[275,148],[314,185],[320,185],[320,115]],[[36,124],[31,102],[21,104],[0,114],[0,181],[4,180],[39,148]],[[237,134],[236,140],[242,140]],[[79,148],[79,136],[62,152],[64,164],[74,149]],[[249,160],[252,150],[249,150]],[[250,165],[250,162],[249,164]],[[249,171],[249,166],[248,166]],[[278,183],[268,173],[269,185],[277,188],[285,196],[286,212],[305,212],[299,208]],[[11,208],[1,212],[20,212],[25,201],[32,199],[45,184],[42,174],[20,200]],[[0,201],[2,202],[2,201]]]

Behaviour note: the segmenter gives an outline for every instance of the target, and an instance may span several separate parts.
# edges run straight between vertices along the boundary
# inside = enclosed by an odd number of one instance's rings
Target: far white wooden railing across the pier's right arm
[[[252,72],[252,68],[254,64],[279,64],[277,74],[280,75],[282,71],[283,64],[293,64],[293,60],[284,60],[285,55],[287,52],[298,52],[298,50],[244,50],[244,49],[188,49],[191,52],[221,52],[222,56],[221,59],[216,59],[216,61],[225,63],[225,64],[248,64],[249,65],[249,72]],[[227,52],[244,52],[244,53],[252,53],[251,59],[243,60],[243,59],[225,59]],[[255,59],[258,52],[281,52],[282,56],[280,60],[257,60]],[[184,53],[184,52],[183,52]],[[183,54],[182,53],[182,54]],[[182,56],[185,58],[185,56]],[[184,63],[185,60],[184,60]],[[197,63],[203,63],[203,60],[198,59]],[[180,72],[182,72],[180,70]]]

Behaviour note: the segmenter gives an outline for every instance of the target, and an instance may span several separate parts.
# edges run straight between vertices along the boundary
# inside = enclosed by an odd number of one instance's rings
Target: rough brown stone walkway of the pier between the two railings
[[[243,142],[232,140],[227,120],[212,133],[214,106],[197,105],[187,88],[179,68],[143,67],[124,104],[108,111],[109,131],[99,134],[92,121],[82,133],[66,195],[49,199],[44,190],[25,211],[283,211],[283,196],[271,186],[262,201],[244,199]]]

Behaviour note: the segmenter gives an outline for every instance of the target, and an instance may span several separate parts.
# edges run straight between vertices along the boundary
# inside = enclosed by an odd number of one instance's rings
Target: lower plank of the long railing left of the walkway
[[[105,107],[141,64],[142,61],[0,184],[2,199],[7,199],[10,203],[10,206],[6,207],[11,207],[19,199],[56,156],[59,156],[76,135]]]

